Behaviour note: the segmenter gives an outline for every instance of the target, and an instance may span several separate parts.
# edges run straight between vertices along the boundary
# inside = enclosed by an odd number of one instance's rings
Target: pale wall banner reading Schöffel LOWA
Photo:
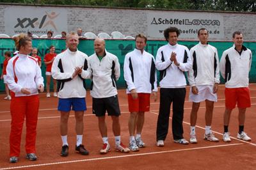
[[[223,16],[205,12],[150,12],[147,14],[148,36],[163,38],[164,29],[177,27],[180,38],[196,38],[198,29],[205,27],[210,38],[223,38]]]

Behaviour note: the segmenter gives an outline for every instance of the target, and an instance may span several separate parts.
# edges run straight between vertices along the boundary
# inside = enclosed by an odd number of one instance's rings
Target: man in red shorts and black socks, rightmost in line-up
[[[249,91],[249,72],[252,65],[252,51],[243,45],[243,34],[240,31],[233,33],[233,47],[225,50],[220,60],[220,72],[225,79],[225,105],[223,141],[230,142],[228,124],[232,109],[238,107],[239,131],[237,138],[251,141],[244,132],[245,111],[251,107]]]

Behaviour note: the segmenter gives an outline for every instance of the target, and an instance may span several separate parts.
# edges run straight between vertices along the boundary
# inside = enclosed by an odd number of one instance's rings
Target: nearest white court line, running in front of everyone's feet
[[[63,161],[63,162],[52,162],[47,164],[35,164],[35,165],[29,165],[29,166],[16,166],[16,167],[3,167],[0,170],[4,169],[18,169],[18,168],[26,168],[26,167],[39,167],[39,166],[52,166],[57,164],[70,164],[70,163],[76,163],[76,162],[89,162],[93,160],[106,160],[106,159],[112,159],[112,158],[127,158],[127,157],[138,157],[138,156],[144,156],[144,155],[156,155],[156,154],[162,154],[162,153],[172,153],[172,152],[178,152],[178,151],[191,151],[191,150],[203,150],[208,148],[220,148],[220,147],[227,147],[227,146],[236,146],[243,143],[234,143],[234,144],[222,144],[217,146],[205,146],[205,147],[198,147],[198,148],[188,148],[188,149],[181,149],[181,150],[168,150],[168,151],[154,151],[154,152],[148,152],[148,153],[137,153],[132,155],[122,155],[122,156],[115,156],[115,157],[99,157],[99,158],[88,158],[88,159],[81,159],[81,160],[70,160],[70,161]]]

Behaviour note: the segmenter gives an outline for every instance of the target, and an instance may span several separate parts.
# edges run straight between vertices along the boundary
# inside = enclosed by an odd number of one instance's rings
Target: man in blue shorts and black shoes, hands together
[[[58,54],[52,64],[52,77],[58,81],[58,111],[61,113],[60,133],[63,143],[61,156],[67,157],[68,155],[67,133],[71,108],[76,118],[76,151],[81,155],[88,155],[89,152],[82,144],[83,116],[86,111],[84,79],[90,79],[88,56],[77,50],[79,40],[76,33],[70,33],[66,43],[67,50]]]

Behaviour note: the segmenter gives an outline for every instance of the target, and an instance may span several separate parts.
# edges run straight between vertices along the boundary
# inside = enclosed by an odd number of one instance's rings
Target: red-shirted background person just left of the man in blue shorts
[[[55,47],[53,45],[50,46],[49,48],[50,52],[45,54],[45,57],[44,57],[44,63],[46,65],[46,72],[45,72],[45,75],[46,75],[46,91],[47,91],[47,94],[46,94],[46,97],[51,97],[51,94],[50,94],[50,84],[51,84],[51,78],[52,78],[52,73],[51,73],[51,70],[52,70],[52,63],[55,59],[55,57],[57,56],[57,54],[55,53]],[[53,82],[53,96],[54,97],[57,97],[57,82],[52,79],[52,82]]]

